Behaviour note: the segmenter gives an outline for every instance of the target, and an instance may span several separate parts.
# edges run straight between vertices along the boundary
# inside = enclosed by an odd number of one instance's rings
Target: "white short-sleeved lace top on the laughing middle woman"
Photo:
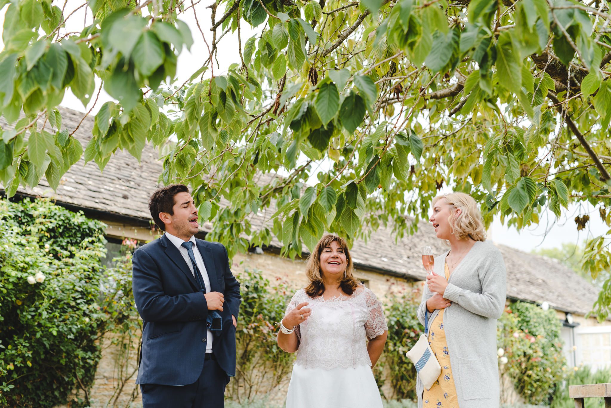
[[[296,364],[307,368],[371,366],[367,341],[388,330],[382,305],[373,292],[362,284],[352,295],[314,299],[299,289],[288,303],[287,312],[299,303],[312,314],[295,327],[299,341]]]

